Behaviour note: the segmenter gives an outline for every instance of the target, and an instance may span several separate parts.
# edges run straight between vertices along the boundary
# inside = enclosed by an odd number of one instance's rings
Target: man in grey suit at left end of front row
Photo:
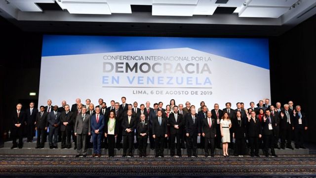
[[[90,115],[86,114],[87,108],[82,107],[81,114],[76,118],[75,135],[77,136],[77,152],[76,157],[87,156],[87,136],[91,134]]]

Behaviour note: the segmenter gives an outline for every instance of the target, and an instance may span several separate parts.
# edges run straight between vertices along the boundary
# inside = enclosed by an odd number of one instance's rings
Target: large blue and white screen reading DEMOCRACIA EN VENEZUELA
[[[257,103],[270,98],[268,39],[44,35],[39,105]]]

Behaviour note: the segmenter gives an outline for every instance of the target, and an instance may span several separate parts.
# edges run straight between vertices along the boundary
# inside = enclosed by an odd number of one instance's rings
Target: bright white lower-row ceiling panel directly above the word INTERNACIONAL
[[[152,15],[160,16],[192,16],[196,5],[153,4]]]

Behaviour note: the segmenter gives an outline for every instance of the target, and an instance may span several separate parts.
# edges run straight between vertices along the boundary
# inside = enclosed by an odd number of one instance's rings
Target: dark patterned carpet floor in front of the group
[[[0,155],[0,177],[316,177],[316,155],[75,158]]]

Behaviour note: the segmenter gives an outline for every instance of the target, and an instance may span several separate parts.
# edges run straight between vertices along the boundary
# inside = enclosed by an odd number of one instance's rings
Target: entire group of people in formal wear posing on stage
[[[187,149],[188,157],[197,157],[198,137],[205,157],[214,157],[215,147],[220,148],[221,143],[224,157],[230,156],[229,147],[239,157],[246,154],[247,147],[252,157],[259,157],[259,147],[263,148],[265,156],[269,157],[270,149],[271,156],[277,157],[275,148],[294,149],[292,133],[295,148],[305,148],[304,131],[308,128],[305,113],[299,105],[294,108],[292,101],[281,107],[281,103],[273,106],[269,99],[265,99],[257,105],[250,102],[248,109],[242,102],[236,104],[237,109],[232,109],[232,104],[227,102],[223,110],[216,103],[210,110],[204,101],[200,102],[199,108],[189,101],[185,106],[176,105],[174,99],[165,108],[162,102],[155,103],[152,108],[149,101],[138,108],[136,101],[127,104],[124,96],[121,104],[112,100],[109,107],[102,98],[96,106],[90,99],[83,105],[79,98],[72,106],[66,101],[61,104],[61,107],[53,106],[48,99],[47,106],[40,106],[40,111],[34,107],[34,102],[24,111],[22,104],[17,104],[12,117],[11,149],[23,147],[24,130],[27,142],[33,141],[37,131],[36,148],[43,148],[49,130],[50,149],[58,148],[58,140],[62,149],[69,149],[73,138],[77,157],[86,157],[90,145],[93,146],[92,156],[100,157],[102,143],[108,149],[109,157],[114,157],[114,149],[121,147],[123,157],[133,157],[135,147],[140,157],[146,157],[148,139],[156,157],[163,157],[165,148],[170,149],[171,157],[182,157],[181,148]]]

